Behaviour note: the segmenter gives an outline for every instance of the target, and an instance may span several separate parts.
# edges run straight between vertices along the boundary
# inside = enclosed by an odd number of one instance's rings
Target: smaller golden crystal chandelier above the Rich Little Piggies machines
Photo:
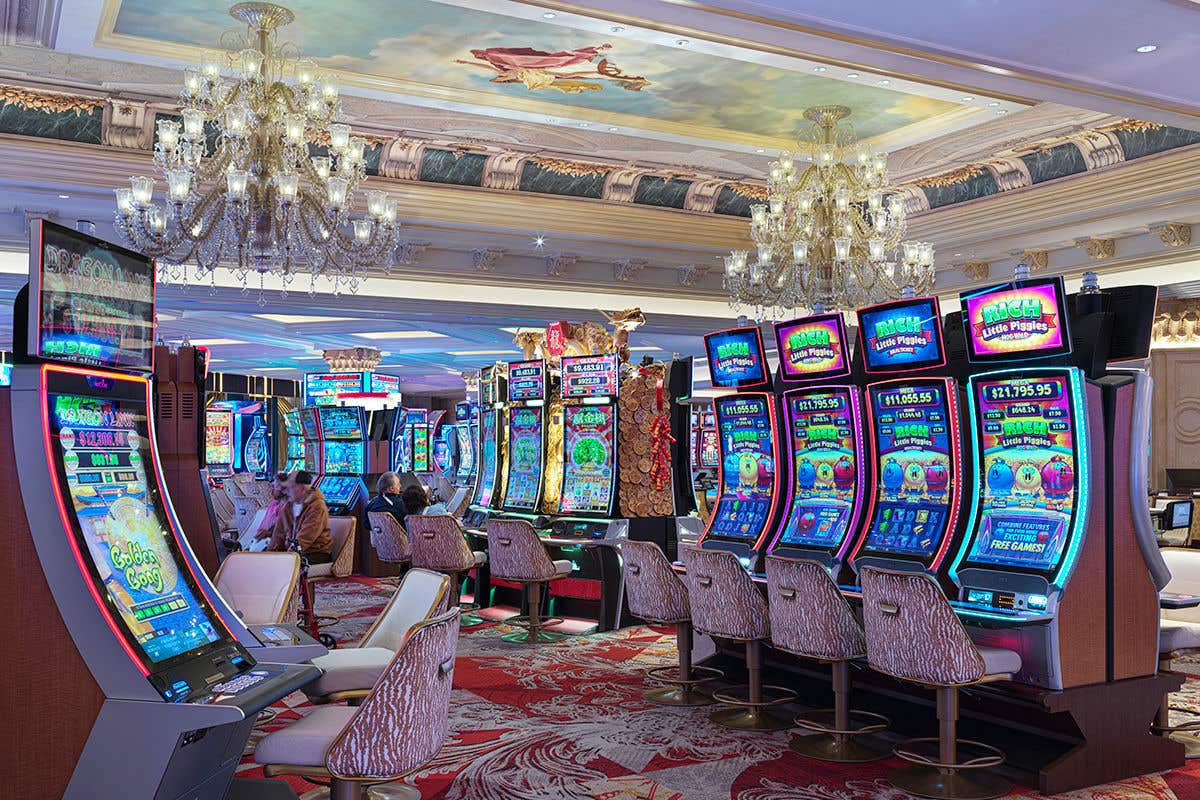
[[[767,203],[750,206],[757,258],[725,259],[730,302],[757,319],[851,311],[934,287],[934,246],[904,241],[887,154],[859,146],[848,115],[845,106],[805,109],[800,149],[770,163]]]

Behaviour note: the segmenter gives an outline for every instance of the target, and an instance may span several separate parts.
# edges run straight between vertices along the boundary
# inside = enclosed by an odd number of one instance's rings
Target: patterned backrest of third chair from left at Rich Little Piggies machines
[[[767,557],[770,643],[809,658],[866,655],[866,638],[838,584],[816,561]]]

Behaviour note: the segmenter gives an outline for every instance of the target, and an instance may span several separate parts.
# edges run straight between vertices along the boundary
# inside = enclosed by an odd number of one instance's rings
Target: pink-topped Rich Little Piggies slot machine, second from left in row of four
[[[822,564],[836,581],[866,518],[874,469],[862,390],[840,313],[775,324],[791,486],[768,554]]]

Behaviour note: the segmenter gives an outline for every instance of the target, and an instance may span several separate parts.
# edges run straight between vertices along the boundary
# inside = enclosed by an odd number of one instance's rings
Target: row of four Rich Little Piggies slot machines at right
[[[1152,674],[1166,576],[1129,501],[1146,489],[1151,381],[1106,362],[1148,355],[1156,299],[1068,296],[1057,277],[965,294],[944,320],[937,299],[906,299],[858,309],[853,353],[842,315],[817,314],[775,325],[778,377],[758,327],[708,335],[713,385],[733,391],[713,402],[700,546],[757,575],[768,554],[816,560],[850,596],[864,565],[925,572],[977,642],[1019,650],[1018,679],[1048,688],[1104,680],[1106,663],[1111,678],[1114,658],[1066,645],[1108,626],[1114,646],[1103,587],[1135,585],[1145,614],[1116,646]]]

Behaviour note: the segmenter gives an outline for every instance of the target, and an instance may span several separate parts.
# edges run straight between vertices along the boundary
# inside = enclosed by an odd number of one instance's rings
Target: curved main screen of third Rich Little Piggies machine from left
[[[946,384],[893,383],[868,393],[878,491],[863,551],[929,558],[946,535],[959,479]]]

